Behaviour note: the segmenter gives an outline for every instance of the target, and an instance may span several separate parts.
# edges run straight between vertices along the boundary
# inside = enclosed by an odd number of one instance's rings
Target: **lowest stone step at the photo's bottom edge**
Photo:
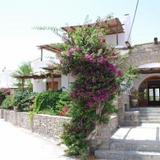
[[[160,160],[159,152],[96,150],[95,156],[101,160]]]

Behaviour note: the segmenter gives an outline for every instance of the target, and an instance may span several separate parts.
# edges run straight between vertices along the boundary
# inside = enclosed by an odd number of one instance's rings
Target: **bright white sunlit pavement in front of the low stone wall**
[[[0,119],[0,160],[73,160],[57,144]]]

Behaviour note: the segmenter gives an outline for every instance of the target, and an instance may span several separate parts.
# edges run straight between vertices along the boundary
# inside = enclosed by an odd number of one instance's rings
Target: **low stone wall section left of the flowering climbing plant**
[[[34,115],[31,117],[26,112],[15,112],[0,109],[0,118],[8,121],[16,126],[30,129],[35,133],[46,137],[60,137],[63,132],[63,124],[69,123],[69,117],[50,116],[50,115]]]

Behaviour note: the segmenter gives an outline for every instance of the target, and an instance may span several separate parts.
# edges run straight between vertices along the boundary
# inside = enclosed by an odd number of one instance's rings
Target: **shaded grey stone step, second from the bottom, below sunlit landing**
[[[146,151],[160,153],[160,141],[113,139],[110,140],[108,149],[114,151]]]

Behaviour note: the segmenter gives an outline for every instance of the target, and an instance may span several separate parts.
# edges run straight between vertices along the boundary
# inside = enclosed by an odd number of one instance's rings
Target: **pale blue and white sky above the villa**
[[[51,31],[36,26],[83,24],[109,14],[133,18],[137,0],[0,0],[0,71],[16,69],[23,62],[40,57],[37,46],[59,42]],[[159,37],[159,0],[140,0],[131,38],[133,44],[152,42]]]

